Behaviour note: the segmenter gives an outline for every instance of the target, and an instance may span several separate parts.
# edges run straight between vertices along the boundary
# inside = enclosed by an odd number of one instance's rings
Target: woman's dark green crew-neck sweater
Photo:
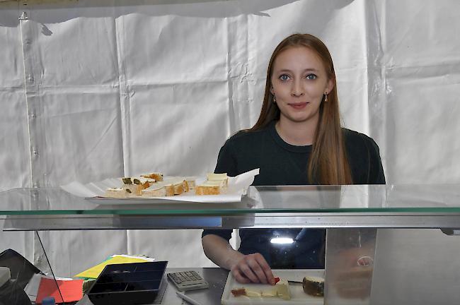
[[[354,184],[385,184],[379,148],[368,136],[343,128]],[[278,135],[275,121],[260,131],[240,131],[221,148],[214,172],[234,177],[260,168],[255,186],[314,184],[307,179],[311,145],[290,145]],[[229,240],[231,230],[203,232]],[[241,253],[259,252],[272,268],[323,268],[323,229],[241,229]],[[272,246],[271,237],[292,237],[290,246]],[[287,249],[287,248],[288,249]]]

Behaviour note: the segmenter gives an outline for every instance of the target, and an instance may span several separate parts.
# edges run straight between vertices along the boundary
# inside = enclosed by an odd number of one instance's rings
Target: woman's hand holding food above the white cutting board
[[[237,282],[275,285],[275,277],[265,258],[260,253],[243,255],[230,266]]]

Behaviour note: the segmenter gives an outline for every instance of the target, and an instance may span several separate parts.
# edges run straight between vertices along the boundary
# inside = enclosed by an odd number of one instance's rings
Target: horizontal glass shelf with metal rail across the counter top
[[[119,203],[120,201],[114,201]],[[460,186],[251,186],[239,203],[79,198],[59,188],[0,193],[4,230],[422,227],[460,223]]]

